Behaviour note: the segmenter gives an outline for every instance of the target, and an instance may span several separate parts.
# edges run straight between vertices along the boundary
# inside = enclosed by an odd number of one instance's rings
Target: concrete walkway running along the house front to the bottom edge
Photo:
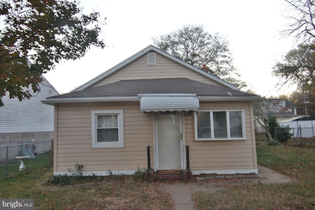
[[[222,189],[231,185],[241,185],[250,183],[284,183],[292,181],[289,177],[273,171],[264,166],[258,165],[258,174],[254,177],[243,177],[212,181],[193,181],[189,183],[174,182],[163,183],[164,189],[171,194],[174,204],[174,210],[197,210],[195,202],[193,201],[192,193],[199,191],[212,191]]]

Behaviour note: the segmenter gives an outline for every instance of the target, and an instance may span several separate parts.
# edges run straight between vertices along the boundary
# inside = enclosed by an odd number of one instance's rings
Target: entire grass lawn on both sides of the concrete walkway
[[[295,182],[231,186],[216,192],[196,192],[201,210],[208,209],[315,209],[315,140],[291,147],[291,143],[268,146],[257,141],[258,164],[282,172]],[[95,177],[74,180],[81,186],[43,184],[53,170],[50,154],[25,160],[26,170],[0,167],[0,198],[32,198],[36,210],[46,209],[138,209],[171,210],[172,201],[159,183],[147,183],[130,176]],[[73,180],[72,180],[73,181]],[[86,182],[89,182],[88,184]],[[71,183],[71,182],[70,182]],[[73,182],[72,182],[73,183]]]

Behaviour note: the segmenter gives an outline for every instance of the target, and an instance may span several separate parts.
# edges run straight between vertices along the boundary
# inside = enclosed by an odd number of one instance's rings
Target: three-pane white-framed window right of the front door
[[[196,140],[245,139],[244,110],[194,113]]]

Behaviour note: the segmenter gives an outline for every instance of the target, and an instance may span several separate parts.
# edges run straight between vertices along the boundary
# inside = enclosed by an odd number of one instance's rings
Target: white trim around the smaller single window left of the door
[[[118,142],[97,142],[97,115],[118,115]],[[92,148],[123,148],[124,147],[124,111],[123,110],[92,110],[91,111]]]

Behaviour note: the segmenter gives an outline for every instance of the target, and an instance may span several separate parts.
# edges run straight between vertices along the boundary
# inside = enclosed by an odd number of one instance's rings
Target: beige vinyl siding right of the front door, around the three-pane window
[[[199,110],[244,109],[246,140],[195,141],[192,114],[185,114],[185,143],[189,145],[191,170],[257,168],[249,102],[200,103]]]

